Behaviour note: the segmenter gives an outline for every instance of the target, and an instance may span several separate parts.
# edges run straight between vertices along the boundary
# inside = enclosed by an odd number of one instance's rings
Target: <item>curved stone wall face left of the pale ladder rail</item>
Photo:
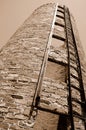
[[[55,7],[34,11],[0,51],[0,129],[30,129],[28,116]]]

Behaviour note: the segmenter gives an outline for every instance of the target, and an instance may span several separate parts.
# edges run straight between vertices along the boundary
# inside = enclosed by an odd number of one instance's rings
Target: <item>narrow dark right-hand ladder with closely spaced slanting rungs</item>
[[[69,105],[69,117],[71,123],[71,130],[75,130],[75,121],[74,117],[80,119],[84,123],[84,127],[86,130],[86,100],[85,100],[85,92],[82,80],[82,71],[80,65],[79,54],[77,50],[76,40],[73,33],[71,18],[69,9],[64,7],[64,16],[65,16],[65,31],[66,31],[66,44],[67,44],[67,52],[68,52],[68,105]],[[71,40],[70,40],[71,38]],[[77,76],[75,76],[71,69],[75,69]],[[71,79],[77,80],[78,85],[76,86],[72,84]],[[73,97],[72,92],[78,91],[80,93],[81,100]],[[78,111],[74,110],[73,102],[77,103],[81,106],[82,114],[79,114]]]

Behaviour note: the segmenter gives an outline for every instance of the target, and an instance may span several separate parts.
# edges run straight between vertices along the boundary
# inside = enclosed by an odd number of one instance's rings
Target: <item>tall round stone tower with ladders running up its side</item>
[[[35,10],[0,51],[0,130],[86,130],[85,65],[69,9]]]

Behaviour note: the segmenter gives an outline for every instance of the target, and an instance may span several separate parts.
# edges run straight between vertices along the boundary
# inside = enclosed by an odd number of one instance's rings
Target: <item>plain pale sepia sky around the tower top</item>
[[[86,55],[86,0],[0,0],[0,48],[37,7],[52,2],[69,7]]]

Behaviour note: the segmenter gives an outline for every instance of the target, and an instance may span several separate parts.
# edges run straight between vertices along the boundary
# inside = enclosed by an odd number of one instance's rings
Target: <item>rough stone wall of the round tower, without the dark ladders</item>
[[[66,120],[68,54],[64,10],[61,7],[57,11],[58,6],[51,3],[36,9],[0,51],[0,130],[65,130],[66,121],[69,130]],[[78,44],[72,15],[71,19],[81,59],[83,52]],[[55,35],[60,38],[55,38]],[[52,110],[58,115],[38,110],[33,112],[29,120],[45,56],[38,107]],[[74,65],[73,62],[71,64]],[[81,65],[85,84],[85,63],[83,65],[81,61]],[[71,73],[77,77],[75,69],[72,68]],[[71,81],[78,86],[77,80],[71,78]],[[78,92],[72,90],[72,95],[80,100]],[[81,114],[81,108],[74,103],[73,106]],[[61,116],[64,120],[59,126]],[[75,118],[75,122],[76,130],[84,130],[80,120]]]

